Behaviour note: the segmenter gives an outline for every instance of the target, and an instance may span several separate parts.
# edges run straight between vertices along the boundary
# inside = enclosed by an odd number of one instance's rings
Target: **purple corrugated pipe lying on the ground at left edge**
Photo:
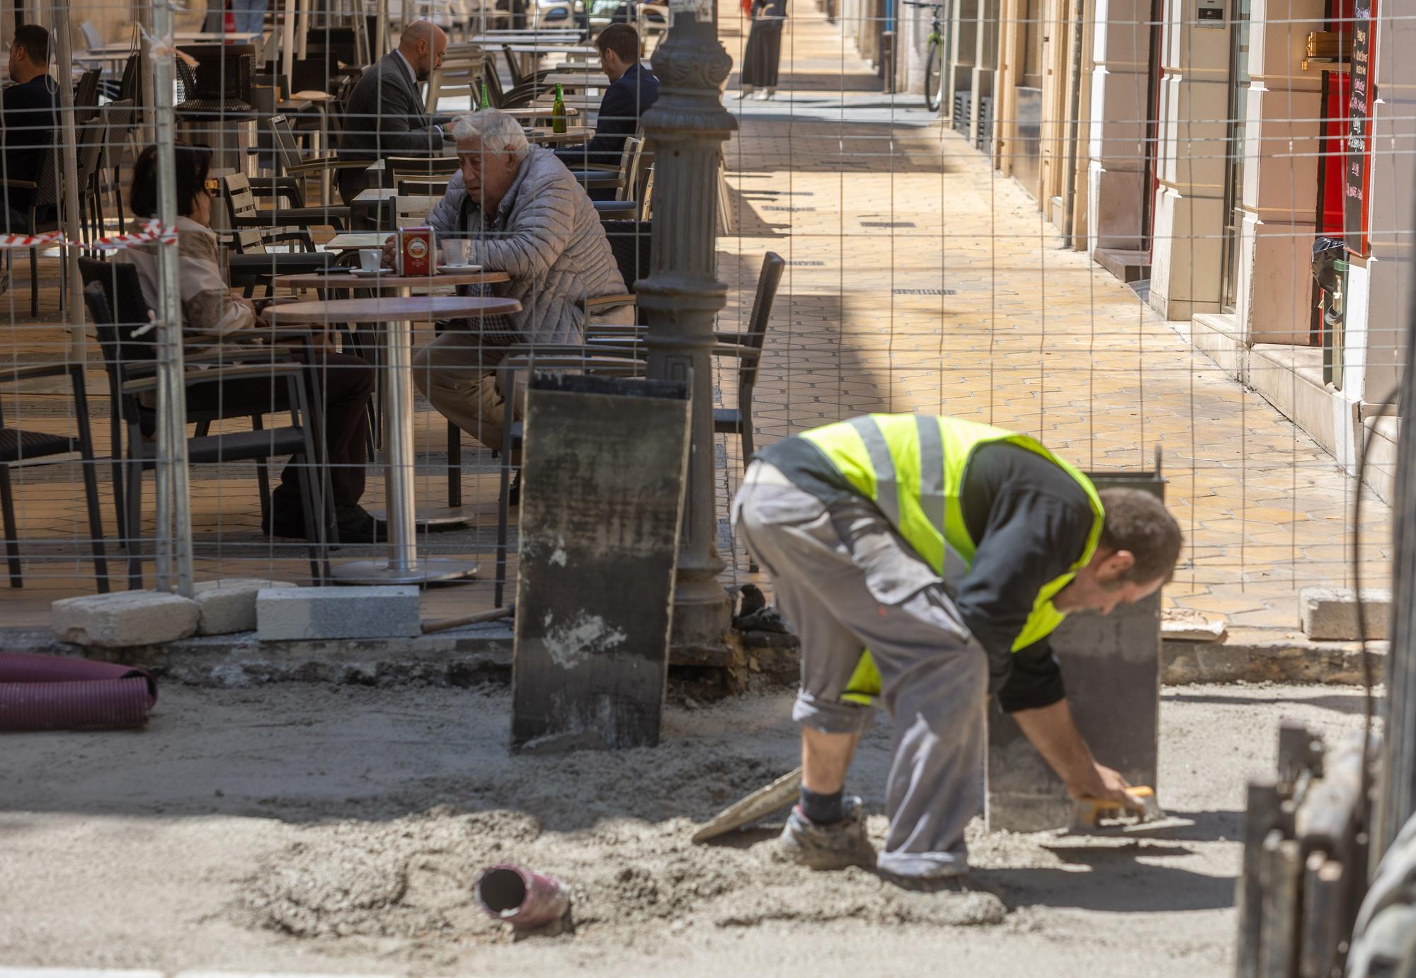
[[[147,669],[0,652],[0,730],[142,726],[157,702]]]

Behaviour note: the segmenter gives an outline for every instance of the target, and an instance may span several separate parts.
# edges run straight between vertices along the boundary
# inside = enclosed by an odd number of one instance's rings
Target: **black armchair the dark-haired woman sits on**
[[[157,430],[157,410],[144,403],[140,396],[157,388],[157,341],[152,327],[150,310],[143,300],[137,269],[120,262],[95,262],[79,259],[84,275],[84,300],[93,318],[103,362],[108,368],[109,399],[113,433],[113,500],[118,508],[119,535],[127,546],[129,586],[142,587],[142,485],[143,471],[157,464],[156,444],[149,437]],[[115,311],[116,310],[116,311]],[[324,549],[324,507],[327,493],[316,493],[309,468],[321,466],[323,453],[317,447],[316,432],[323,432],[310,395],[304,364],[286,357],[280,350],[262,347],[231,347],[215,359],[188,358],[193,367],[184,376],[184,385],[191,389],[202,384],[219,384],[227,379],[285,378],[290,405],[290,423],[283,427],[265,427],[262,412],[249,405],[224,406],[219,410],[188,410],[187,422],[197,430],[187,439],[187,459],[193,464],[224,461],[255,461],[256,478],[261,487],[261,518],[266,522],[270,514],[269,474],[266,464],[276,456],[295,456],[304,463],[300,468],[300,502],[304,511],[304,525],[316,528],[310,541],[310,575],[323,580],[329,575]],[[229,418],[249,418],[249,432],[228,432],[211,435],[211,422]],[[126,429],[126,447],[123,433]],[[126,478],[123,477],[126,476]],[[122,487],[122,488],[120,488]]]

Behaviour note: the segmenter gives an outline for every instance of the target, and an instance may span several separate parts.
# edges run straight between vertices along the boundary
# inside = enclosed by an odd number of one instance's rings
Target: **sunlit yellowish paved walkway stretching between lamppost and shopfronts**
[[[724,17],[735,62],[736,24]],[[932,410],[1024,430],[1087,468],[1148,467],[1160,449],[1189,543],[1167,604],[1296,631],[1298,589],[1352,585],[1355,481],[1327,451],[1063,249],[920,96],[868,91],[874,75],[809,4],[782,71],[772,102],[739,102],[736,76],[726,96],[742,123],[719,243],[742,303],[729,326],[746,326],[763,252],[789,260],[755,395],[763,443]],[[721,386],[731,402],[735,382]],[[1366,495],[1362,522],[1362,583],[1383,585],[1389,507]]]

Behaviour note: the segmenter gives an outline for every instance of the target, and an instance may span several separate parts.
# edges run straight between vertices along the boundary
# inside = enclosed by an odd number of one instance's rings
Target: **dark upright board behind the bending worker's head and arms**
[[[1089,473],[1097,490],[1143,488],[1164,498],[1158,476]],[[1131,784],[1155,784],[1160,763],[1160,596],[1112,614],[1072,614],[1052,633],[1076,726],[1096,760]],[[1061,778],[997,699],[988,705],[990,831],[1038,832],[1072,824]]]

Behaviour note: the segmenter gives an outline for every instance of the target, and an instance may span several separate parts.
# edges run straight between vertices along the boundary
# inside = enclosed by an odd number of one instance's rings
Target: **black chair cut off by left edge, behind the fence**
[[[0,403],[0,511],[4,518],[4,551],[10,565],[10,586],[23,587],[20,568],[20,534],[14,515],[14,494],[10,485],[10,464],[28,459],[50,459],[58,454],[78,451],[84,470],[84,501],[88,507],[91,548],[93,551],[93,577],[99,593],[108,592],[108,559],[103,551],[103,518],[99,514],[98,478],[93,471],[93,442],[89,437],[88,396],[84,389],[84,364],[50,364],[42,367],[14,367],[0,375],[0,382],[31,381],[42,376],[69,375],[74,389],[74,418],[78,422],[78,437],[28,432],[10,427],[4,422]]]

